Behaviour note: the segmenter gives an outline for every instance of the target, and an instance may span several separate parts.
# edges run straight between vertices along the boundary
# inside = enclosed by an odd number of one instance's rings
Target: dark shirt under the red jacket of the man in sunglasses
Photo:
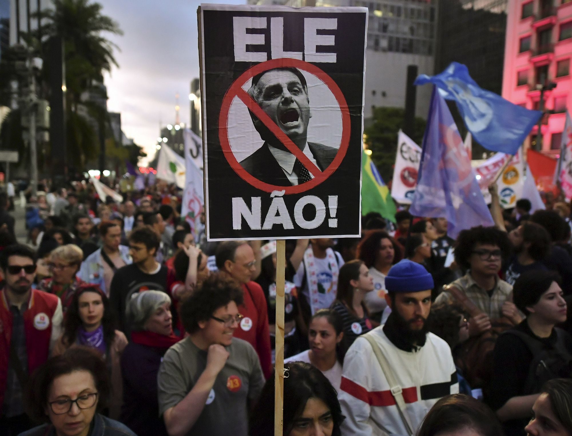
[[[26,331],[24,330],[24,312],[27,310],[27,303],[22,304],[21,308],[10,304],[10,311],[14,316],[12,323],[12,338],[16,347],[16,354],[25,372],[28,368],[28,356],[26,351]],[[6,391],[4,394],[4,404],[2,406],[2,416],[6,418],[14,417],[24,413],[23,408],[23,389],[16,375],[16,371],[9,364],[6,379]]]

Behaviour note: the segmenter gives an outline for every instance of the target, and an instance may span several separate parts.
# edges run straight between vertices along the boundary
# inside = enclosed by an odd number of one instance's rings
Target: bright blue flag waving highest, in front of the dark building
[[[515,105],[479,88],[465,65],[451,62],[442,73],[421,74],[415,85],[432,83],[446,100],[454,100],[472,137],[494,152],[515,154],[542,116],[539,110]]]

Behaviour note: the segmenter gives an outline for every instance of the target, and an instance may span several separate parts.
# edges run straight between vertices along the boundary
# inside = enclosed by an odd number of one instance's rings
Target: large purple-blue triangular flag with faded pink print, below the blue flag
[[[448,235],[476,225],[494,225],[471,168],[459,130],[443,97],[433,88],[412,215],[446,217]]]

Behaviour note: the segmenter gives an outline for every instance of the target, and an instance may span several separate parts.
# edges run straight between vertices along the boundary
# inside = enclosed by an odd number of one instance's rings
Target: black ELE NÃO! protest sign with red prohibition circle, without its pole
[[[199,19],[208,240],[359,236],[367,9]]]

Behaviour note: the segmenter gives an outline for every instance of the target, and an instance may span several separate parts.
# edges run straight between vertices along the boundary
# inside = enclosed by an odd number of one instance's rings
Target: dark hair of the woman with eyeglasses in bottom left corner
[[[107,366],[96,350],[77,346],[47,359],[32,373],[27,384],[25,405],[27,414],[33,421],[49,422],[45,410],[51,383],[59,376],[74,371],[88,371],[92,374],[98,393],[96,411],[100,412],[107,407],[111,389]]]

